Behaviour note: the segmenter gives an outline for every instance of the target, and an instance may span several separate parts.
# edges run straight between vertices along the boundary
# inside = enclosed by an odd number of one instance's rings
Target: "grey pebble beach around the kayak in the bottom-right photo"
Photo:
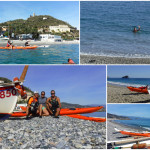
[[[119,141],[124,140],[125,138],[128,138],[127,135],[123,135],[120,132],[116,132],[114,128],[117,128],[119,130],[128,130],[128,131],[134,131],[134,132],[143,132],[146,131],[144,128],[140,127],[131,127],[127,126],[118,122],[114,122],[114,120],[107,119],[107,143],[109,141]]]

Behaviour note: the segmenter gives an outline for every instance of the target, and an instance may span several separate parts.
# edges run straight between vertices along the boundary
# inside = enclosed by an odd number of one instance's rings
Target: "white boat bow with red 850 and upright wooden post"
[[[0,120],[11,116],[19,95],[21,95],[22,98],[26,98],[26,92],[20,87],[24,82],[27,69],[28,66],[25,66],[18,82],[13,81],[12,83],[4,83],[3,81],[0,81]]]

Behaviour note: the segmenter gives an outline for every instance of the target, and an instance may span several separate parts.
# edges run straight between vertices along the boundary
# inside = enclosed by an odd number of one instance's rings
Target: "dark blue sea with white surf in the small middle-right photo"
[[[107,82],[118,86],[150,86],[150,78],[108,78]]]

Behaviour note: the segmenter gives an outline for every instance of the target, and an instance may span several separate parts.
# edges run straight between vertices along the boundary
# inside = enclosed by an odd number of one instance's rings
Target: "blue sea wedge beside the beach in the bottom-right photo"
[[[115,122],[150,131],[150,118],[131,118],[131,120],[115,120]]]

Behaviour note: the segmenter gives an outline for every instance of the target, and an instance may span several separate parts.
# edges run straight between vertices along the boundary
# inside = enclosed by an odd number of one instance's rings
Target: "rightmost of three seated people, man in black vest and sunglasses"
[[[61,109],[60,98],[55,96],[55,91],[51,90],[51,97],[49,97],[46,101],[47,110],[50,115],[53,115],[54,118],[59,118],[59,113]]]

